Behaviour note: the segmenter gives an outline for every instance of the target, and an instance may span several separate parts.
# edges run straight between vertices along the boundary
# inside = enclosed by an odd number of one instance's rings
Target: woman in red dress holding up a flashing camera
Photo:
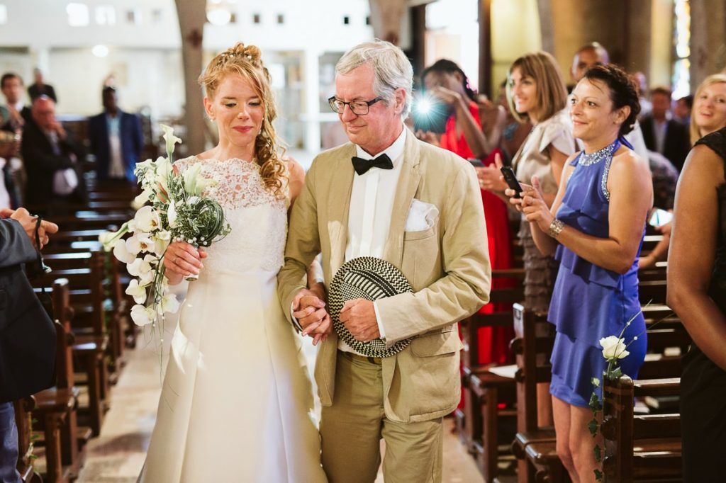
[[[492,164],[494,156],[499,152],[497,148],[499,141],[487,139],[485,136],[481,126],[479,106],[476,103],[476,92],[470,87],[469,80],[461,68],[450,60],[441,59],[423,71],[421,80],[425,86],[425,93],[432,96],[434,102],[446,104],[450,115],[446,120],[446,130],[439,139],[433,133],[420,133],[420,137],[432,144],[439,144],[441,148],[455,152],[465,159],[477,158],[483,160],[484,165]],[[492,270],[511,268],[512,242],[507,205],[497,195],[484,189],[481,190],[481,199],[484,202]],[[495,278],[492,280],[492,288],[500,288],[510,283],[502,278]],[[481,308],[480,313],[492,313],[494,310],[502,310],[502,307],[492,307],[492,304],[487,304]],[[511,327],[481,328],[478,331],[478,363],[509,363],[511,360],[509,343],[512,338]]]

